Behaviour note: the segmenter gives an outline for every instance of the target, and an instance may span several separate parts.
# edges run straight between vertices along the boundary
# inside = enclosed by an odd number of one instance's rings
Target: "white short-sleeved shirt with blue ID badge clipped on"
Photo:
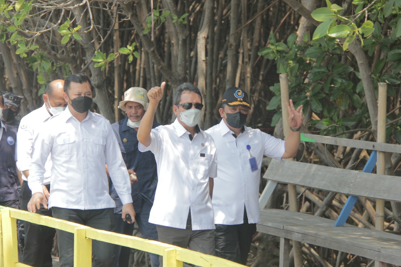
[[[263,155],[281,159],[284,154],[284,141],[266,134],[259,129],[244,127],[245,131],[237,138],[224,120],[206,132],[209,133],[219,153],[217,179],[213,189],[213,208],[215,223],[238,225],[243,223],[244,205],[248,222],[258,223],[259,181]],[[249,151],[256,158],[259,170],[251,171]]]

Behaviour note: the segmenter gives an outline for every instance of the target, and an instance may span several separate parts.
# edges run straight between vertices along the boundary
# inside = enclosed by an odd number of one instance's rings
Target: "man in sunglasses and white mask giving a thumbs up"
[[[148,91],[149,106],[138,129],[140,151],[156,158],[158,186],[149,222],[157,226],[159,241],[213,255],[213,178],[217,176],[216,146],[199,129],[202,95],[190,83],[174,95],[175,121],[152,129],[164,85]],[[162,263],[162,260],[160,260]]]

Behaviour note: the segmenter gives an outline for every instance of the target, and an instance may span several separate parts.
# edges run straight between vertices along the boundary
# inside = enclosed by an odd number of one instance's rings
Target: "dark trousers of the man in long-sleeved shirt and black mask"
[[[77,210],[53,207],[53,217],[79,223],[95,229],[113,231],[115,220],[113,208]],[[74,266],[74,234],[56,230],[61,267]],[[109,267],[113,263],[115,245],[92,240],[92,267]]]

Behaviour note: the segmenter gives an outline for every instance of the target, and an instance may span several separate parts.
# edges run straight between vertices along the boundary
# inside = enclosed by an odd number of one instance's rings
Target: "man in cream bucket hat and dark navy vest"
[[[150,240],[158,240],[156,225],[149,223],[150,209],[153,206],[154,195],[157,186],[157,168],[154,155],[150,151],[138,150],[137,131],[142,117],[149,105],[146,89],[131,87],[124,93],[124,101],[119,103],[119,108],[126,112],[127,117],[113,123],[111,127],[121,149],[128,172],[136,174],[137,180],[132,185],[131,195],[135,207],[135,221],[138,224],[142,237]],[[159,126],[153,122],[152,128]],[[122,203],[111,188],[111,197],[115,201],[115,232],[132,235],[134,224],[125,223],[121,218]],[[159,266],[159,256],[149,253],[152,265]],[[128,267],[130,248],[117,246],[113,267]]]

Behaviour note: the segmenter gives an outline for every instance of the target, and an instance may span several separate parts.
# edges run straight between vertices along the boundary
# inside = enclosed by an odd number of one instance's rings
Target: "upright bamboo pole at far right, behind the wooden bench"
[[[387,83],[379,83],[379,109],[377,114],[377,142],[386,142]],[[385,152],[377,152],[377,174],[385,174]],[[384,200],[376,200],[376,230],[384,231]],[[383,263],[375,261],[375,266]]]

